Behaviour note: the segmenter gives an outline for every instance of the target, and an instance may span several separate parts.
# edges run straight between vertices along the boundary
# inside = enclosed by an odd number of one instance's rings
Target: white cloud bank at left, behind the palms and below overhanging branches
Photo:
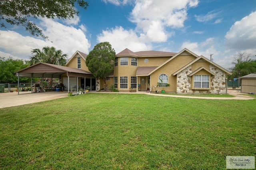
[[[30,36],[22,36],[14,31],[0,30],[0,50],[21,59],[29,59],[32,49],[42,49],[44,46],[54,46],[56,49],[61,49],[63,53],[68,54],[68,57],[71,57],[76,50],[89,53],[90,42],[88,42],[81,29],[76,29],[73,26],[64,26],[46,18],[41,18],[38,26],[42,27],[44,35],[48,36],[52,42]]]

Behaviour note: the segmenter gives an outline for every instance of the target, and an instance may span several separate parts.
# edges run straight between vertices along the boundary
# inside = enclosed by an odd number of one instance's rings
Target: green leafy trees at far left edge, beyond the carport
[[[28,66],[28,60],[0,57],[0,83],[17,83],[18,78],[14,72]],[[30,78],[28,77],[20,77],[20,82],[26,83],[29,81]]]

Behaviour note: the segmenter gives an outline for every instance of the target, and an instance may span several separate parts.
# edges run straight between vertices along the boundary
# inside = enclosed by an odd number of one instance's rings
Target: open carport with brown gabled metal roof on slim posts
[[[36,63],[19,71],[16,71],[16,76],[18,77],[18,89],[20,89],[20,77],[31,77],[31,89],[32,89],[32,78],[33,77],[48,77],[48,78],[62,78],[62,75],[68,77],[68,93],[69,93],[69,77],[77,77],[77,91],[78,91],[78,77],[93,78],[92,73],[89,71],[84,71],[81,69],[65,67],[61,65],[54,65],[48,63]],[[44,84],[44,83],[43,83]],[[31,93],[33,91],[31,90]],[[19,95],[19,91],[18,91]]]

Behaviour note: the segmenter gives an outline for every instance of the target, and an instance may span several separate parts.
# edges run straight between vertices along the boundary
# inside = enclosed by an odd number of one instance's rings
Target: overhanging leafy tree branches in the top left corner
[[[32,18],[74,18],[78,14],[75,3],[86,9],[89,4],[84,0],[0,0],[0,26],[6,28],[5,22],[21,25],[33,36],[43,35]]]

